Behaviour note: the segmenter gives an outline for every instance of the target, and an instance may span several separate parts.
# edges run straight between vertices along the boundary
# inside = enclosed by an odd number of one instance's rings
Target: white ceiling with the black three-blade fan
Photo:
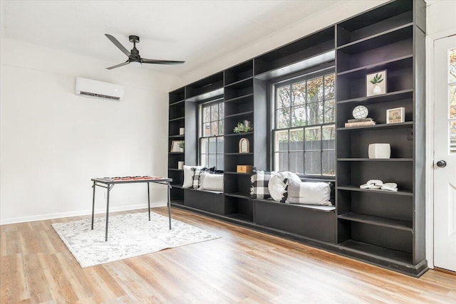
[[[107,61],[126,60],[104,33],[140,55],[183,65],[142,68],[185,75],[280,31],[336,0],[304,1],[15,1],[2,0],[4,37]]]

